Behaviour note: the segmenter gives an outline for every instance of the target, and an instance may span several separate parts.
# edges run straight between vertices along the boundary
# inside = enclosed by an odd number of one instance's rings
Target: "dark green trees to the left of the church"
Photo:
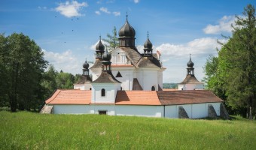
[[[0,107],[10,107],[11,112],[39,110],[56,89],[73,89],[80,76],[49,66],[28,36],[0,34]]]

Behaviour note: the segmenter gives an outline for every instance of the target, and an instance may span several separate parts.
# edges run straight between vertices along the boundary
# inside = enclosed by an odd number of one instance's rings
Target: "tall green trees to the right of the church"
[[[228,112],[256,118],[256,20],[253,5],[236,16],[233,34],[204,66],[208,89],[224,100]]]

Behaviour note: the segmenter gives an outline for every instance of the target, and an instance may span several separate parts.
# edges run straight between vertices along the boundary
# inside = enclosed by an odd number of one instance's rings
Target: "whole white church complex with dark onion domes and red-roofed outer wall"
[[[136,31],[127,20],[119,30],[119,46],[108,52],[101,39],[91,68],[84,62],[83,75],[74,89],[56,90],[41,113],[136,115],[164,118],[228,118],[222,100],[203,90],[187,62],[187,77],[176,91],[163,89],[160,52],[148,39],[144,53],[135,45]],[[91,71],[92,79],[89,72]]]

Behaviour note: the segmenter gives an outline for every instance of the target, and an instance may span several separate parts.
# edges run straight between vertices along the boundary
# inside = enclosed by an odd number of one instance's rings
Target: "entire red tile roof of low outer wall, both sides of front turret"
[[[85,90],[57,90],[46,104],[91,104],[91,92]],[[116,105],[179,105],[221,103],[207,90],[191,91],[118,91]],[[107,104],[108,105],[108,104]]]

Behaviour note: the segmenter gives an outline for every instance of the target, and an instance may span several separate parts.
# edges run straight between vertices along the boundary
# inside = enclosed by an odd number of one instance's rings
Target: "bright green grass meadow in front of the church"
[[[256,149],[256,121],[0,111],[0,149]]]

